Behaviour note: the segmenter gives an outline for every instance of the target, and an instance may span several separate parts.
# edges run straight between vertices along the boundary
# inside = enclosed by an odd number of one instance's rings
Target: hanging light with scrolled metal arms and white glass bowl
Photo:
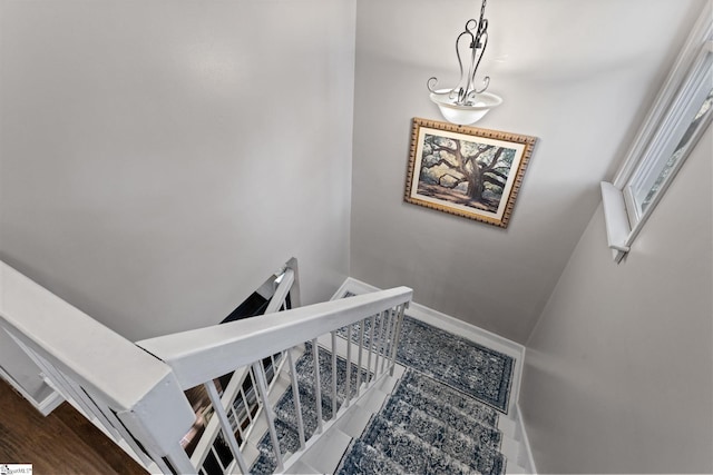
[[[486,12],[486,1],[480,6],[480,19],[470,19],[466,22],[466,29],[456,39],[456,56],[460,67],[460,81],[452,89],[436,89],[437,78],[428,80],[430,98],[446,120],[461,126],[473,123],[480,120],[490,109],[499,106],[502,99],[494,93],[486,92],[490,83],[490,77],[482,79],[482,85],[478,89],[475,86],[478,66],[488,44],[488,19],[484,18]],[[470,51],[470,66],[468,72],[463,69],[461,49]]]

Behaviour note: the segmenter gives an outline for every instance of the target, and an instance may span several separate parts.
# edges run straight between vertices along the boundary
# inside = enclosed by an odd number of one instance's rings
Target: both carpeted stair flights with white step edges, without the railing
[[[328,340],[324,340],[328,344]],[[338,345],[338,407],[345,390],[345,342]],[[296,364],[303,380],[300,398],[306,431],[316,428],[313,407],[313,367],[309,352]],[[322,392],[329,394],[331,353],[320,349]],[[356,384],[353,367],[351,387]],[[304,373],[302,373],[304,372]],[[362,374],[365,379],[365,375]],[[285,456],[299,449],[299,429],[292,390],[275,407],[280,445]],[[322,400],[322,412],[331,417],[331,400]],[[401,365],[394,374],[349,408],[322,439],[285,473],[320,474],[524,474],[516,424],[506,415],[427,375]],[[273,473],[276,464],[267,434],[255,443],[260,455],[253,474]]]

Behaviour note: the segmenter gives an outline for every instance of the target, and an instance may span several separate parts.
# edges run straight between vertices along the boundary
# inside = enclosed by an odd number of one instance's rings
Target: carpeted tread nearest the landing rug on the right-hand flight
[[[495,409],[413,370],[406,372],[393,395],[453,427],[480,423],[495,428],[498,424]]]

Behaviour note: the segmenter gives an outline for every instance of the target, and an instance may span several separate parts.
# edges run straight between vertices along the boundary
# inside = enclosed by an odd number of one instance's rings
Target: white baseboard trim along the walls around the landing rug
[[[361,280],[348,277],[340,286],[340,288],[334,293],[332,298],[341,298],[346,291],[359,295],[378,290],[379,288],[370,284],[365,284]],[[484,328],[468,324],[463,320],[451,317],[450,315],[446,315],[441,311],[433,310],[432,308],[426,307],[414,301],[411,301],[407,314],[437,328],[453,333],[479,345],[511,356],[515,359],[515,368],[512,369],[512,380],[510,383],[511,386],[510,400],[508,404],[508,416],[514,417],[515,405],[517,404],[520,395],[520,384],[522,380],[522,367],[525,360],[525,346],[501,337],[500,335],[494,334],[492,331],[488,331]]]

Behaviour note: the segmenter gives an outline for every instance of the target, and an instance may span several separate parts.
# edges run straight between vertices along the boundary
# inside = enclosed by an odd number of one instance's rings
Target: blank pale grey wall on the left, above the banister
[[[355,1],[0,1],[0,258],[130,339],[349,275]]]

